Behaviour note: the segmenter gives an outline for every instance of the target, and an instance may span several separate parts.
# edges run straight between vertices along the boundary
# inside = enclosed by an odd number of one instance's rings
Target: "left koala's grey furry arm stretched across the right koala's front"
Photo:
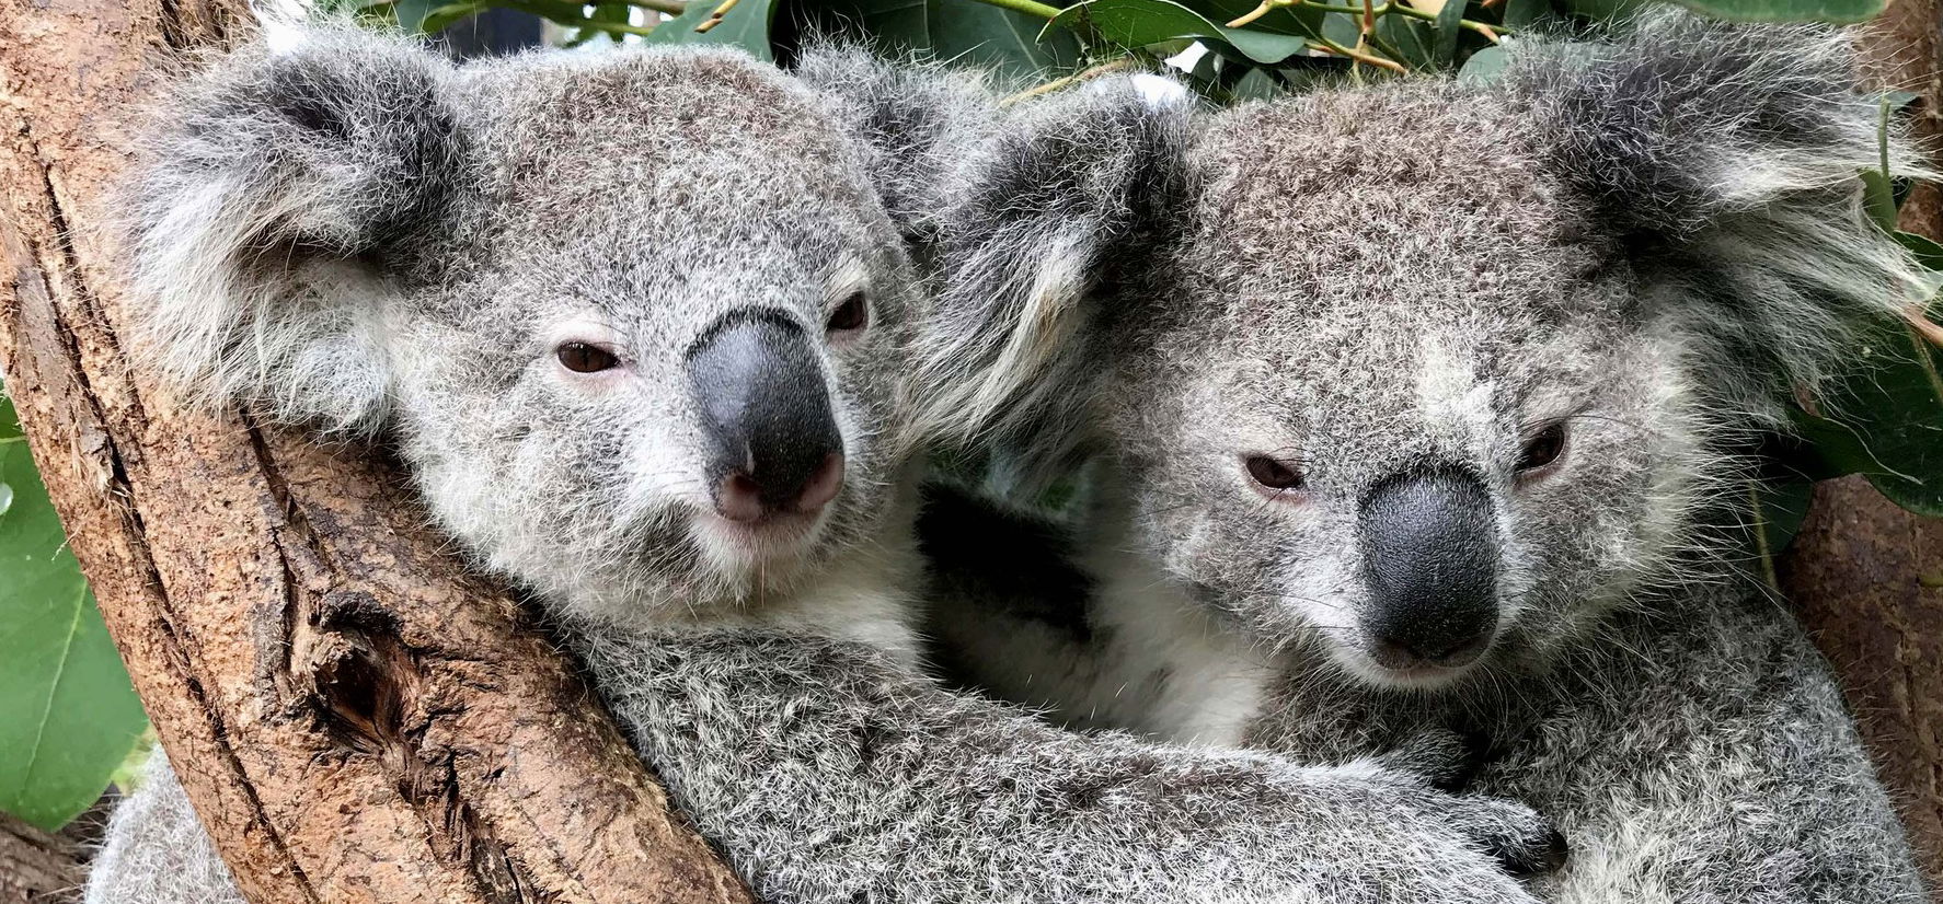
[[[764,900],[1527,902],[1486,852],[1556,850],[1519,805],[1376,766],[1061,731],[861,644],[575,642],[643,759]]]

